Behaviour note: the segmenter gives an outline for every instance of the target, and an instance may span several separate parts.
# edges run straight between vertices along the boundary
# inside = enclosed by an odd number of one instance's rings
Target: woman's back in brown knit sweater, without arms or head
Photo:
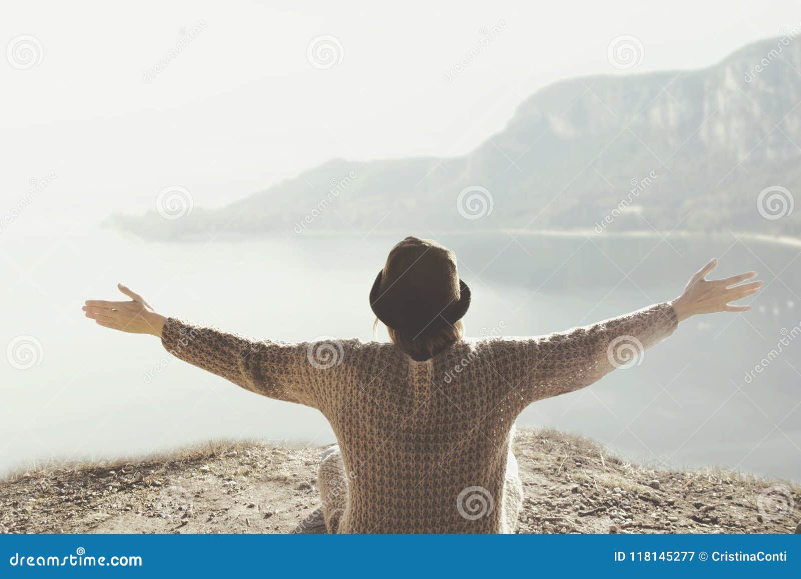
[[[361,364],[340,371],[320,408],[344,459],[340,532],[502,530],[517,408],[477,345],[460,341],[415,362],[392,344],[349,344],[345,355]]]

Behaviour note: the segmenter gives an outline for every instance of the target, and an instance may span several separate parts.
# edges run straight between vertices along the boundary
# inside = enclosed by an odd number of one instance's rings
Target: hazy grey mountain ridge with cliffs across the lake
[[[772,38],[702,70],[556,82],[463,157],[334,159],[221,209],[183,215],[186,192],[167,191],[162,215],[111,223],[162,239],[223,228],[799,234],[799,103],[801,42]]]

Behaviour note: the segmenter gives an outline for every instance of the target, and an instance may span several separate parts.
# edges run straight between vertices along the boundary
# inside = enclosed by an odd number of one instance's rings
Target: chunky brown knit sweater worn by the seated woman
[[[348,476],[339,533],[501,533],[514,421],[674,332],[670,304],[530,338],[459,340],[425,362],[394,344],[250,340],[170,318],[173,355],[263,396],[318,409]]]

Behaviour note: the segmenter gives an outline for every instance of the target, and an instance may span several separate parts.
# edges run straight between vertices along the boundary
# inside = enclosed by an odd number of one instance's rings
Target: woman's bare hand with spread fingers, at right
[[[763,286],[761,281],[737,285],[746,279],[755,278],[756,271],[747,271],[726,279],[707,280],[706,275],[717,265],[718,260],[711,259],[690,278],[682,295],[673,301],[678,321],[686,320],[695,314],[747,312],[751,309],[751,306],[732,306],[729,303],[759,292],[759,288]]]

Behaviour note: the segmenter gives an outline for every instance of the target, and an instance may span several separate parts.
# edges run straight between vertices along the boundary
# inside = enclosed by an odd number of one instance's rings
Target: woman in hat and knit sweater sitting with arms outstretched
[[[456,256],[415,237],[392,248],[370,292],[391,344],[249,340],[162,316],[123,285],[131,301],[88,300],[83,310],[105,328],[159,336],[175,356],[252,392],[320,410],[339,443],[320,463],[330,533],[502,533],[513,532],[522,500],[510,452],[517,415],[619,366],[621,344],[650,348],[695,314],[746,312],[729,303],[762,282],[740,283],[755,271],[709,281],[716,264],[672,302],[535,338],[465,340],[470,290]]]

